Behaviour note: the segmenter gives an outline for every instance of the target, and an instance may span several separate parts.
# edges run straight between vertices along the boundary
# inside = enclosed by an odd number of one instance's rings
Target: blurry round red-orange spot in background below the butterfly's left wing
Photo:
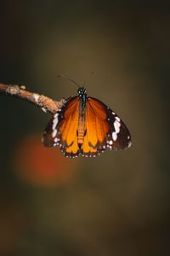
[[[45,148],[41,136],[26,137],[14,150],[14,169],[22,180],[41,186],[67,183],[77,160],[67,159],[59,148]]]

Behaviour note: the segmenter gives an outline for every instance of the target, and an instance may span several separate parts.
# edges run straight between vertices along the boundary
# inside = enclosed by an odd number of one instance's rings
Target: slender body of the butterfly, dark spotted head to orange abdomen
[[[86,89],[83,87],[78,88],[79,94],[79,113],[78,113],[78,129],[77,129],[77,140],[79,148],[82,147],[82,143],[84,141],[84,136],[86,134],[86,122],[85,122],[85,114],[86,114],[86,103],[88,99],[88,95],[86,93]]]

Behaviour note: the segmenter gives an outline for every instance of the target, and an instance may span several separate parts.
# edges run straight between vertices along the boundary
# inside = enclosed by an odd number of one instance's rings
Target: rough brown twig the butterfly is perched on
[[[42,108],[42,111],[49,113],[59,111],[59,108],[65,105],[66,102],[65,99],[56,102],[47,96],[28,91],[26,90],[25,85],[0,84],[0,94],[14,96],[27,102],[31,102],[37,107]]]

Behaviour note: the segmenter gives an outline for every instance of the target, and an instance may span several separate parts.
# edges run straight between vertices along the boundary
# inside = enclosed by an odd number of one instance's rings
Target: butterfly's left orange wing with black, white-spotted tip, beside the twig
[[[46,147],[58,146],[65,156],[78,156],[77,144],[79,98],[71,97],[65,106],[54,113],[42,137]]]

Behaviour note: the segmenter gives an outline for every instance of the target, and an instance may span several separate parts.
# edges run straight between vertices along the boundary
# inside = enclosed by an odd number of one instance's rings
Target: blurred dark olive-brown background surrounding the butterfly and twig
[[[133,138],[68,160],[42,146],[49,114],[0,96],[1,256],[170,253],[169,27],[167,1],[1,1],[0,82],[57,100],[65,74]]]

